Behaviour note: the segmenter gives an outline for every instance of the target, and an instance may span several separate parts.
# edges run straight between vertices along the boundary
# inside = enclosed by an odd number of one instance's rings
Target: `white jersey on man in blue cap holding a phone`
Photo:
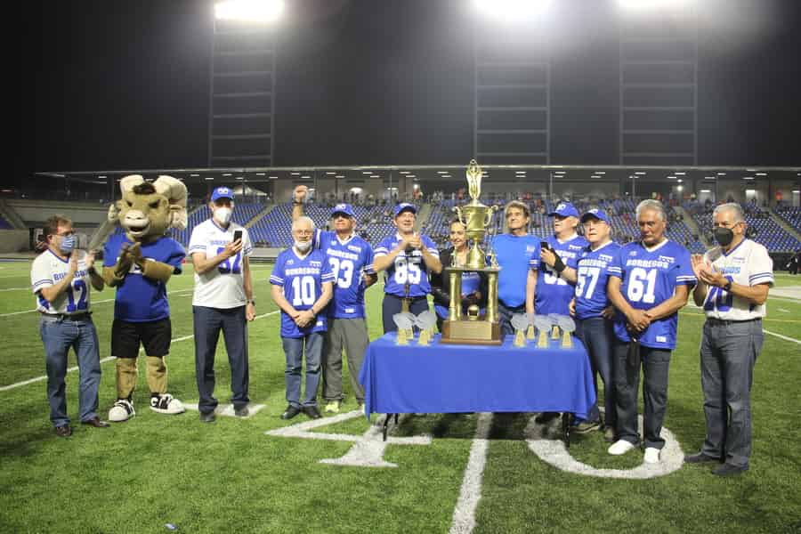
[[[189,254],[196,252],[206,254],[206,258],[220,254],[227,244],[233,241],[234,231],[242,231],[242,250],[235,256],[223,261],[216,268],[204,274],[195,272],[195,294],[192,297],[193,306],[206,306],[208,308],[230,309],[244,306],[245,286],[243,263],[245,256],[253,253],[253,245],[247,229],[237,223],[230,223],[228,229],[223,230],[214,223],[213,219],[204,221],[195,227],[190,238]]]

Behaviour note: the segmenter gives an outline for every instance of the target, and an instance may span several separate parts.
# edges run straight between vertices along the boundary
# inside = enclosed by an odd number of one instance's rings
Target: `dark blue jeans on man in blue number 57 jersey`
[[[612,358],[612,341],[615,339],[612,330],[612,321],[603,317],[590,317],[576,320],[576,336],[587,349],[590,366],[593,369],[593,383],[595,384],[595,397],[598,394],[598,376],[603,382],[603,408],[604,425],[615,428],[615,375],[614,359]],[[598,401],[590,409],[587,421],[599,421],[601,414],[598,411]]]

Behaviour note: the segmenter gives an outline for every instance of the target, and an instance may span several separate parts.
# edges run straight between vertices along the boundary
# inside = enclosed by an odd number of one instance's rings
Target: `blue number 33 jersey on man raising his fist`
[[[334,297],[328,304],[328,317],[336,319],[364,318],[364,273],[372,274],[373,247],[353,236],[340,241],[335,231],[317,231],[314,246],[328,256],[334,273]]]

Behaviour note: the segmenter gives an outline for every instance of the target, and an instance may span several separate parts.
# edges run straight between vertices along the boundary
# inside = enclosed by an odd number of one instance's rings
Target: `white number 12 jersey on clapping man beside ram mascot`
[[[72,254],[77,254],[77,271],[75,271],[72,283],[53,303],[47,302],[47,299],[39,291],[44,287],[55,286],[67,276],[69,260],[62,260],[53,254],[50,248],[36,256],[30,268],[30,285],[36,295],[36,310],[39,312],[53,315],[57,313],[76,315],[89,311],[89,289],[92,283],[84,261],[86,252],[75,250]]]

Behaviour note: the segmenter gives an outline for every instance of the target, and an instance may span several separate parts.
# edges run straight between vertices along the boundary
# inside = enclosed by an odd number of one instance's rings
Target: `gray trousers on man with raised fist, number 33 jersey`
[[[322,352],[323,399],[342,401],[342,350],[348,355],[351,388],[357,402],[364,402],[364,388],[359,384],[359,371],[369,343],[364,319],[329,319]]]

